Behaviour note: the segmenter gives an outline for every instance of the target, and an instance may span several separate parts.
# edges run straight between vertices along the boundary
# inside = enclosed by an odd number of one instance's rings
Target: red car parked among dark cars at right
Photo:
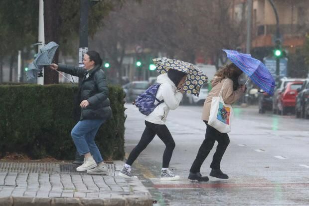
[[[296,96],[298,94],[297,89],[301,88],[303,81],[293,81],[287,83],[286,87],[279,93],[278,97],[278,109],[279,114],[285,115],[287,111],[294,111],[296,105]]]

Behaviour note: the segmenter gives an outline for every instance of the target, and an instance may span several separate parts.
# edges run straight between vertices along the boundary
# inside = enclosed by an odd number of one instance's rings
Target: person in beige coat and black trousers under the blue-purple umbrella
[[[197,156],[191,166],[190,174],[188,177],[190,180],[197,180],[202,182],[207,182],[209,180],[207,176],[203,177],[200,174],[200,168],[208,156],[210,150],[212,149],[215,141],[218,142],[218,146],[215,154],[213,155],[212,163],[210,165],[211,172],[209,175],[220,179],[228,179],[228,176],[222,173],[220,170],[220,162],[227,146],[230,143],[229,136],[227,133],[219,132],[215,128],[209,126],[207,123],[210,114],[212,97],[219,96],[222,86],[222,98],[226,104],[234,103],[244,94],[246,87],[244,85],[239,85],[238,83],[238,78],[242,73],[242,70],[240,70],[235,64],[231,63],[220,69],[211,81],[212,89],[204,102],[202,111],[202,120],[206,124],[205,140],[200,146]]]

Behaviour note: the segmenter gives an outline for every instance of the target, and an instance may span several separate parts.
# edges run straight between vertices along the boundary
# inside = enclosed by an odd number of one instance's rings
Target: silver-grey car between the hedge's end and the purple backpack
[[[124,92],[126,93],[126,102],[133,102],[149,86],[148,81],[133,81],[123,85]]]

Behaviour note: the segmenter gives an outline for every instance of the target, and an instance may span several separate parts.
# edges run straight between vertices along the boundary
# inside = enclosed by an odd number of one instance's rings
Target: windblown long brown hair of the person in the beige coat
[[[243,71],[238,68],[234,63],[227,64],[223,66],[215,76],[221,77],[222,79],[229,78],[233,80],[233,90],[237,90],[239,87],[238,78],[243,73]]]

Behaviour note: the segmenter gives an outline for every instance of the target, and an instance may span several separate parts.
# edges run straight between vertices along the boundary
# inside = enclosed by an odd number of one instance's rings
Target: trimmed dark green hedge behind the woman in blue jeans
[[[6,152],[33,159],[52,156],[72,160],[75,146],[70,136],[77,123],[73,119],[77,86],[0,85],[0,157]],[[113,118],[103,124],[96,142],[105,160],[124,157],[124,92],[109,86]]]

